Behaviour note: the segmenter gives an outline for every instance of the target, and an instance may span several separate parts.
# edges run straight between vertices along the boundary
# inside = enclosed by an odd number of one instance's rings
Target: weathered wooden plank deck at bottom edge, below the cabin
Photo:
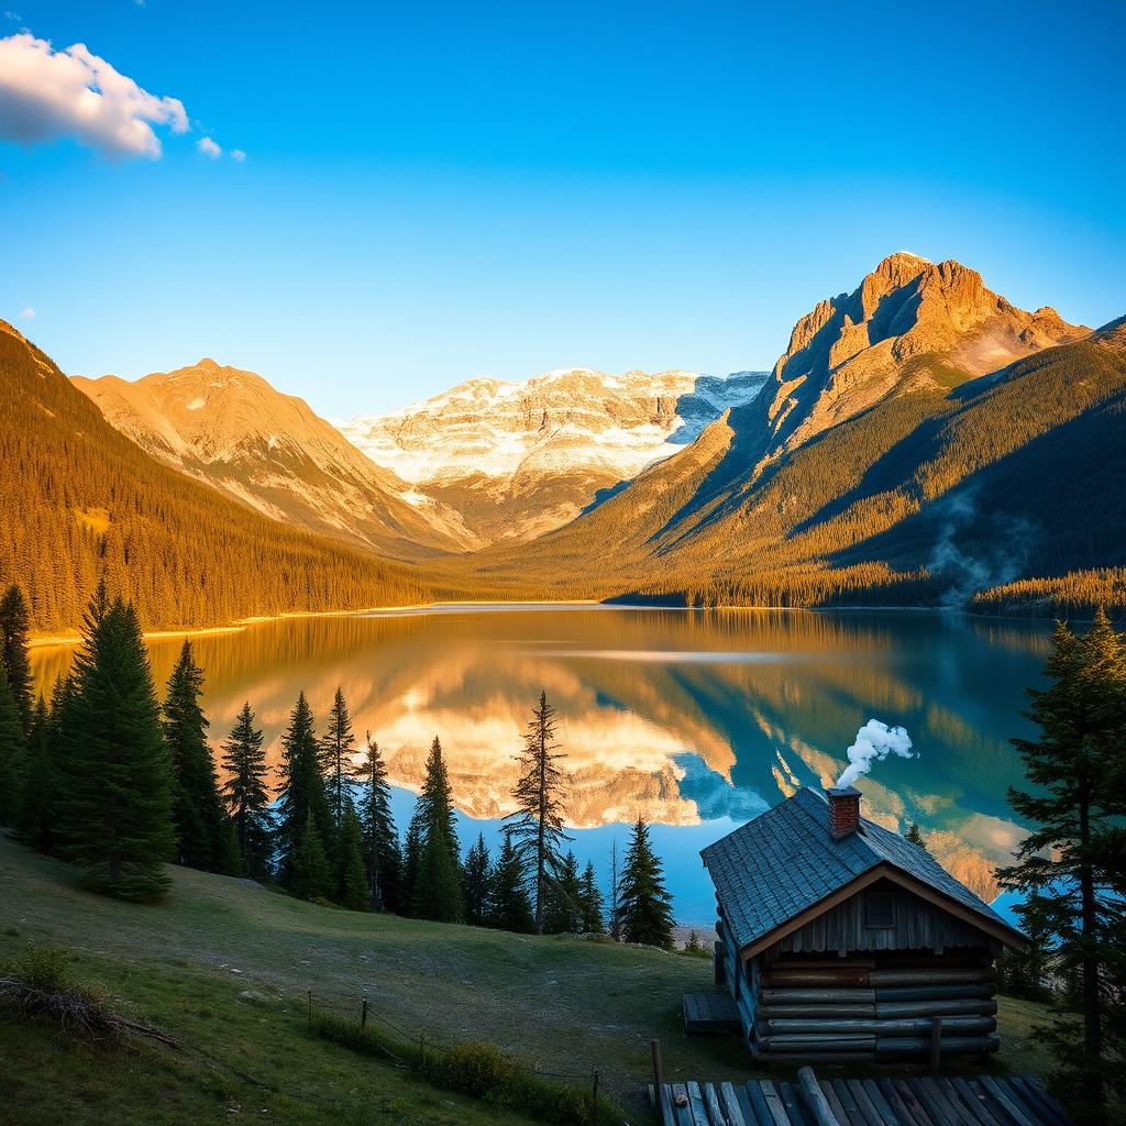
[[[665,1083],[650,1088],[662,1126],[1072,1126],[1030,1075]]]

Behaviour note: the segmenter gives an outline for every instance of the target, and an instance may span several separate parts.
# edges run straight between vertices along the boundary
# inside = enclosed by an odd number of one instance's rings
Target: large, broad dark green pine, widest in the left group
[[[160,897],[176,843],[172,771],[136,613],[100,583],[83,619],[61,732],[63,855],[84,882],[124,899]]]

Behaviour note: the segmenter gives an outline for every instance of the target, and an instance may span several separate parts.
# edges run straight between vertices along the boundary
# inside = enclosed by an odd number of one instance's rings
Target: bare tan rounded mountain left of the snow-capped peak
[[[272,519],[395,558],[481,544],[456,512],[252,372],[202,359],[135,383],[72,382],[142,449]]]

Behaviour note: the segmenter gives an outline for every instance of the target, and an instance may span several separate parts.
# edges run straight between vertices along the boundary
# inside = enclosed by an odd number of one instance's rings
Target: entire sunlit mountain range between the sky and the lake
[[[0,582],[41,627],[75,623],[52,591],[99,568],[145,571],[169,625],[448,597],[1126,604],[1126,329],[955,261],[886,258],[771,373],[472,379],[339,427],[209,359],[68,382],[0,327],[25,498]]]

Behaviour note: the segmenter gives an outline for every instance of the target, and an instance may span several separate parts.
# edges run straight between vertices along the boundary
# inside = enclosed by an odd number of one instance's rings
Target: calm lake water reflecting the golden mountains
[[[936,833],[932,850],[990,895],[992,866],[1021,835],[1006,801],[1021,781],[1009,744],[1028,734],[1024,689],[1040,682],[1045,623],[920,613],[448,607],[251,625],[199,636],[213,743],[250,700],[271,761],[298,691],[319,722],[343,688],[372,732],[405,828],[430,741],[449,763],[467,846],[498,835],[513,756],[540,689],[558,712],[582,863],[608,881],[613,841],[654,825],[678,920],[708,926],[698,850],[799,785],[835,780],[869,718],[908,729],[917,759],[859,783],[865,812]],[[163,686],[181,641],[150,643]],[[71,651],[33,651],[41,686]]]

